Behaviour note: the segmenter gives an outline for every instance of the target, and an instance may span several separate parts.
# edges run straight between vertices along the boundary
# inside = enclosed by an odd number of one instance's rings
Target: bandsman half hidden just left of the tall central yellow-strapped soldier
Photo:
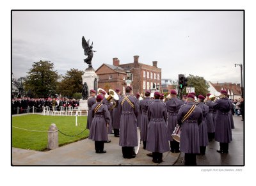
[[[119,97],[119,100],[121,98],[121,91],[119,88],[116,88],[115,89],[118,97]],[[119,109],[118,109],[118,100],[114,100],[116,105],[113,109],[113,118],[114,120],[112,121],[112,125],[113,125],[113,128],[114,128],[114,135],[115,137],[119,137],[119,128],[120,128],[120,118],[121,118],[121,114],[119,112]]]

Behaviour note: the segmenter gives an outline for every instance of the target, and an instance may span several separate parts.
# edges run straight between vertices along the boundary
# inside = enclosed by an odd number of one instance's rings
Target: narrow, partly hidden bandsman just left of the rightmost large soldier
[[[206,115],[206,124],[207,124],[207,133],[208,133],[208,141],[212,141],[213,133],[215,132],[214,118],[213,118],[213,102],[210,99],[211,93],[207,93],[205,105],[209,107],[209,112]]]

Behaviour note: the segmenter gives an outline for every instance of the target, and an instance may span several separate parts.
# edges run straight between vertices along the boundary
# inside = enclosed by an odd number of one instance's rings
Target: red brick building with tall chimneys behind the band
[[[159,91],[161,91],[161,68],[157,68],[157,61],[153,61],[152,66],[146,65],[139,63],[139,56],[134,56],[133,63],[120,64],[118,58],[113,58],[113,65],[102,64],[95,71],[99,75],[98,87],[106,91],[109,88],[120,88],[124,93],[127,70],[132,73],[133,93],[143,93],[145,89],[152,89],[154,84],[155,88],[159,84]]]

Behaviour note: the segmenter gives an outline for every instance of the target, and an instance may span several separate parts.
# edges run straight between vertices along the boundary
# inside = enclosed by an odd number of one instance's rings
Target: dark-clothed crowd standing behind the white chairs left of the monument
[[[42,112],[44,107],[49,107],[51,111],[60,111],[60,107],[68,106],[78,107],[79,100],[68,98],[13,98],[12,99],[12,114],[23,114],[29,112]]]

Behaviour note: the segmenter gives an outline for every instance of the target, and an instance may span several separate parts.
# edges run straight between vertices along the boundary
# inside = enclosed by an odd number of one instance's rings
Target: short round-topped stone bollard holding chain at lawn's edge
[[[48,130],[48,149],[52,150],[59,147],[58,128],[52,123]]]

